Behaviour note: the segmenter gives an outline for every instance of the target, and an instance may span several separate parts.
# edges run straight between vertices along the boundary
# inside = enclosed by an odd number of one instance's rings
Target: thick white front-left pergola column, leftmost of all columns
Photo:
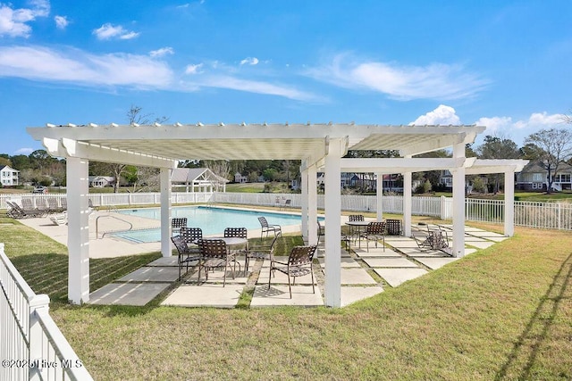
[[[89,301],[89,180],[88,160],[66,159],[68,204],[68,299]]]

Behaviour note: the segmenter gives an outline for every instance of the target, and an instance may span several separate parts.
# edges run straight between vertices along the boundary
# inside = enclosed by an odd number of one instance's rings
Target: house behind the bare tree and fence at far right
[[[556,175],[552,172],[552,189],[556,191],[572,189],[572,165],[562,162]],[[548,170],[541,162],[529,162],[522,171],[517,173],[515,183],[520,190],[546,191],[548,189]]]

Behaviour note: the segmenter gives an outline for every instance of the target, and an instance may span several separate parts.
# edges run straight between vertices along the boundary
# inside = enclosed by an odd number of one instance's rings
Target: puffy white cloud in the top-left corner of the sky
[[[38,17],[47,17],[50,4],[46,0],[30,2],[30,8],[13,9],[11,4],[0,4],[0,36],[29,37],[29,21]]]

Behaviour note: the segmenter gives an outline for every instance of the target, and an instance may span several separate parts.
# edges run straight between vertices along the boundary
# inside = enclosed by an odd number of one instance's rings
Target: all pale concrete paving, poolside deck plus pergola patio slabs
[[[159,221],[144,219],[130,215],[94,211],[89,218],[90,258],[111,258],[139,253],[160,251],[160,243],[135,244],[119,238],[105,236],[105,232],[124,229],[128,221],[136,228],[158,228]],[[341,224],[347,216],[342,217]],[[56,241],[67,243],[67,227],[56,226],[48,218],[21,219],[30,228],[35,228]],[[97,223],[97,236],[96,236]],[[442,225],[444,229],[450,226]],[[426,226],[414,226],[421,231]],[[299,232],[299,227],[283,227],[287,232]],[[501,242],[507,237],[478,228],[466,227],[466,254],[475,253],[479,249]],[[103,238],[101,236],[104,236]],[[260,229],[248,231],[249,237],[260,236]],[[458,258],[452,258],[440,251],[421,251],[413,238],[406,236],[387,236],[386,249],[370,247],[358,248],[352,245],[351,250],[341,251],[341,305],[383,292],[384,288],[397,287],[410,279],[421,277],[428,272],[439,269]],[[246,290],[253,293],[250,308],[264,308],[283,305],[315,307],[324,305],[324,247],[321,246],[315,261],[315,294],[312,293],[311,279],[299,277],[296,286],[292,287],[292,298],[288,291],[287,278],[277,273],[268,286],[269,264],[267,261],[256,261],[251,271],[242,271],[234,279],[227,274],[227,284],[222,285],[222,271],[215,271],[207,282],[197,284],[196,269],[179,282],[177,257],[162,257],[130,274],[116,279],[90,294],[92,304],[145,305],[157,295],[169,290],[162,305],[184,307],[234,308],[240,295]],[[285,258],[282,258],[285,260]],[[244,261],[240,261],[244,266]]]

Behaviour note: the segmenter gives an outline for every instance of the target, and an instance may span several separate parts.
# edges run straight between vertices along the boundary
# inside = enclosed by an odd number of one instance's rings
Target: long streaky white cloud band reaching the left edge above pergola
[[[82,86],[164,88],[172,70],[147,55],[88,54],[41,46],[0,46],[0,76]]]

